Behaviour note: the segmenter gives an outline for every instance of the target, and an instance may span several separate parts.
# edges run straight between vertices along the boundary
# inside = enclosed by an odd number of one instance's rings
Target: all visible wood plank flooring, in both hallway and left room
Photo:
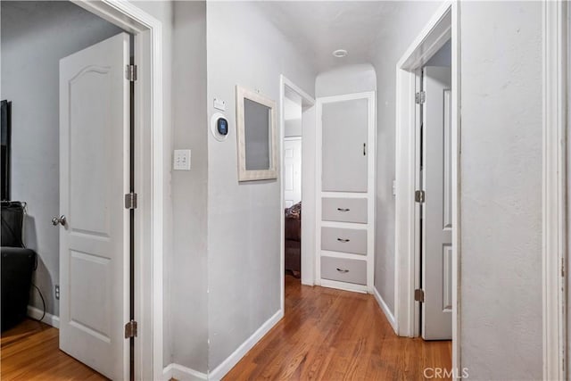
[[[26,320],[2,334],[2,380],[104,380],[58,349],[58,330]],[[451,369],[451,342],[394,335],[372,295],[285,277],[285,318],[225,380],[418,380]]]

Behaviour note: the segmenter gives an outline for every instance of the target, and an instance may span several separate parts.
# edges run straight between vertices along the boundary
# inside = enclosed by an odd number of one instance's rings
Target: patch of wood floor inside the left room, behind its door
[[[35,320],[25,320],[2,333],[0,379],[106,380],[59,350],[59,331]]]

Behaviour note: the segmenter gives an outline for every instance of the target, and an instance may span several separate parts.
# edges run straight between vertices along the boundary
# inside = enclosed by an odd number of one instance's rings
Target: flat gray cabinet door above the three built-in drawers
[[[323,104],[322,191],[367,192],[368,101]]]

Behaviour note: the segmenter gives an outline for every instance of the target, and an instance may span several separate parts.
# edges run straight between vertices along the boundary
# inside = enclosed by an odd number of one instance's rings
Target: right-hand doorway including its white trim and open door
[[[397,63],[395,320],[459,372],[459,21],[443,4]]]

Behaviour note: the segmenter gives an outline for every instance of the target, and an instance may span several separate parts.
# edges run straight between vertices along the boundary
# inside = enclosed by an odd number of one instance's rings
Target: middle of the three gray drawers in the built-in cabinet
[[[367,230],[321,228],[321,249],[332,252],[367,254]]]

